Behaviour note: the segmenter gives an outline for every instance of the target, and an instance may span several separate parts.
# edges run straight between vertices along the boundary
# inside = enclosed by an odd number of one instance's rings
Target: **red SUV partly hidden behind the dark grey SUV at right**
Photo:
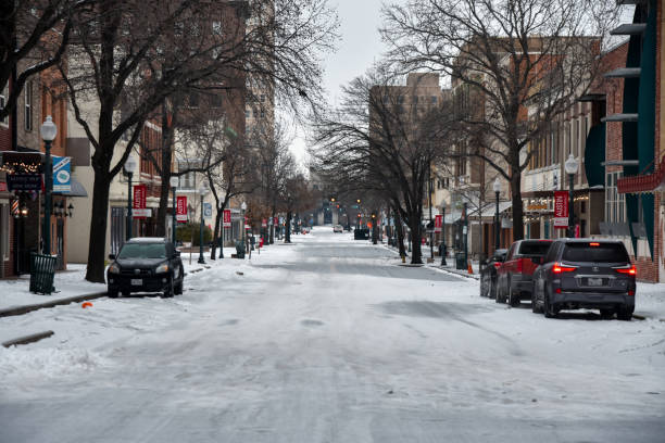
[[[503,264],[497,269],[497,303],[518,306],[531,300],[534,271],[542,263],[552,240],[518,240],[514,242]]]

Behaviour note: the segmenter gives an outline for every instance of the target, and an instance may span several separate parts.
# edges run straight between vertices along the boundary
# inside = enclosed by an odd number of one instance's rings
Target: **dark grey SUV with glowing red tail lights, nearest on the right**
[[[561,309],[600,309],[630,320],[636,268],[620,241],[561,239],[534,273],[531,309],[555,317]]]

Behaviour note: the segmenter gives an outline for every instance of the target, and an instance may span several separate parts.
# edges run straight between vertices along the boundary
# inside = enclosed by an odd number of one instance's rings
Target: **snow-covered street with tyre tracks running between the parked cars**
[[[658,318],[545,319],[352,233],[293,241],[175,299],[1,318],[3,337],[55,334],[0,347],[0,441],[664,441]]]

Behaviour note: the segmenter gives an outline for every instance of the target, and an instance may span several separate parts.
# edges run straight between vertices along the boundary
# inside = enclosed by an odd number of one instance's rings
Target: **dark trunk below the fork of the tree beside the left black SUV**
[[[95,168],[92,186],[92,213],[90,214],[90,240],[88,244],[88,269],[86,280],[103,283],[106,252],[106,226],[109,223],[109,189],[111,177],[106,170]]]

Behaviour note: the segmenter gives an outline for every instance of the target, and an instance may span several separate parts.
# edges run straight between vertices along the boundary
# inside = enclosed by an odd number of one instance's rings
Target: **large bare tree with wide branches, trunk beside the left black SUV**
[[[75,118],[95,150],[90,237],[104,238],[110,182],[145,123],[160,121],[156,110],[171,96],[244,88],[238,79],[251,74],[252,81],[269,85],[278,97],[313,103],[321,75],[315,54],[329,49],[337,26],[330,16],[325,0],[275,5],[171,0],[159,8],[139,0],[99,0],[93,12],[79,13],[68,68],[63,65],[61,72]],[[249,31],[248,17],[254,21]],[[126,143],[115,155],[122,139]],[[166,186],[171,170],[162,172]],[[90,242],[90,281],[104,280],[104,246]]]

